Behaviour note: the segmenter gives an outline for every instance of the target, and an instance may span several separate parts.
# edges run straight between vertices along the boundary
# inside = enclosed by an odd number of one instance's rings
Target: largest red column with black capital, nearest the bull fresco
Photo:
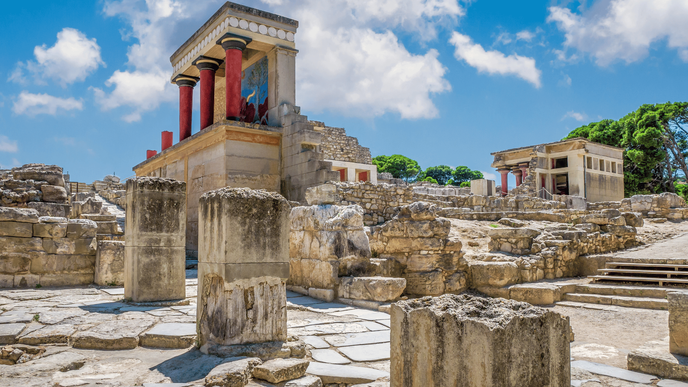
[[[224,81],[226,86],[226,112],[228,120],[241,121],[241,56],[252,39],[226,33],[215,43],[224,49]]]

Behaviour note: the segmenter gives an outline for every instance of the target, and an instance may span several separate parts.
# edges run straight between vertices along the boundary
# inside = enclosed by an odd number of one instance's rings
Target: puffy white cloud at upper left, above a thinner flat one
[[[74,28],[63,28],[57,33],[57,41],[51,48],[41,45],[34,48],[36,61],[17,63],[8,81],[26,83],[23,68],[34,73],[36,83],[43,79],[56,79],[61,85],[83,81],[105,62],[100,59],[100,46],[96,39],[88,39],[83,32]]]

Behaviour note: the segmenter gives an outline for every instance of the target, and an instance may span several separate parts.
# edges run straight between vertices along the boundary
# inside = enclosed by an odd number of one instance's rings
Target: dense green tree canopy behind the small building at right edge
[[[674,192],[688,176],[688,103],[645,104],[618,121],[583,125],[563,138],[585,137],[624,148],[625,195]],[[684,187],[680,187],[683,191]]]

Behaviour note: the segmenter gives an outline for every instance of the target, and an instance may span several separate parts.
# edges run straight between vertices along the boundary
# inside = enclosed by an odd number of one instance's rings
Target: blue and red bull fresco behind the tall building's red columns
[[[241,72],[241,116],[245,123],[268,125],[268,56]]]

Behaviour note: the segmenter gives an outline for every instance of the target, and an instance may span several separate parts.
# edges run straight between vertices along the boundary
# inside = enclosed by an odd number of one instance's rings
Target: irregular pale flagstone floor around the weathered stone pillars
[[[196,275],[197,271],[187,271],[188,304],[170,307],[132,306],[122,302],[122,288],[0,291],[0,344],[16,342],[13,347],[20,350],[16,365],[0,363],[0,386],[202,385],[207,373],[224,359],[204,355],[193,346]],[[320,376],[325,384],[346,382],[330,386],[389,375],[387,313],[291,291],[287,301],[288,333],[306,342],[310,350],[308,373]],[[604,363],[604,357],[585,359]],[[612,369],[612,373],[620,370]],[[573,375],[574,386],[648,385],[616,375],[590,374],[583,368],[574,368]],[[578,383],[581,380],[588,381]],[[658,382],[655,379],[651,384]],[[250,386],[272,385],[254,381]]]

